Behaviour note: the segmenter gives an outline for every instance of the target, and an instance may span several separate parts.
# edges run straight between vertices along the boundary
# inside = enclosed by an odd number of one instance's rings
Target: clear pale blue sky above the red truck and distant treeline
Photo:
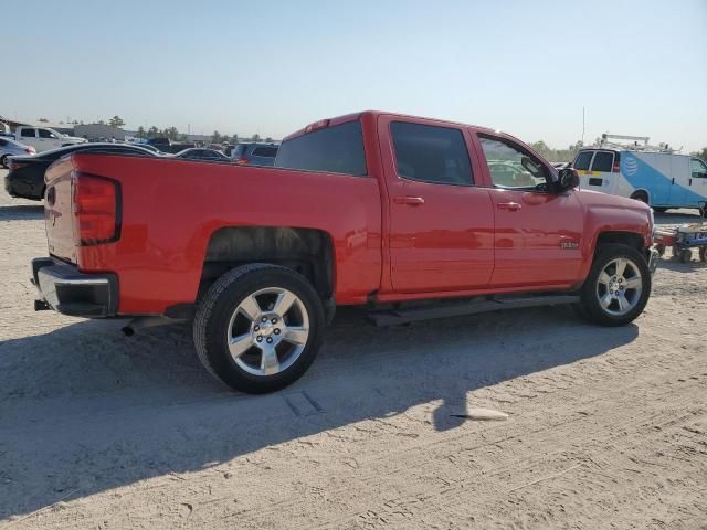
[[[281,138],[368,108],[707,146],[707,0],[2,4],[0,115]]]

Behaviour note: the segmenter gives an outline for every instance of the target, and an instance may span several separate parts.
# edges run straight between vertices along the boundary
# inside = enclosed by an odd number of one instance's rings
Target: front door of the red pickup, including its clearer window
[[[552,172],[520,144],[478,136],[494,204],[493,287],[571,284],[582,264],[583,209],[576,191],[547,191]]]

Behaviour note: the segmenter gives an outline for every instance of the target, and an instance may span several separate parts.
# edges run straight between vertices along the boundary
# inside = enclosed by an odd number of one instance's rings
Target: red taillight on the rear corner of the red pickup
[[[120,236],[120,190],[114,180],[78,173],[72,180],[77,245],[110,243]]]

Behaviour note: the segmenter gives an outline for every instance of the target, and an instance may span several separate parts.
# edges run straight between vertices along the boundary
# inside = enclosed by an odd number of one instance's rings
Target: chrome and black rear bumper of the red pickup
[[[115,274],[84,274],[75,266],[41,257],[32,259],[32,283],[49,306],[74,317],[112,317],[118,310]]]

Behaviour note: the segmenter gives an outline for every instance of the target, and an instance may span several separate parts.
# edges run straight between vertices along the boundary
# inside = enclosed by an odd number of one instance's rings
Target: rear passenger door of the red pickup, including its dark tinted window
[[[486,287],[494,266],[494,211],[474,186],[468,132],[405,118],[379,119],[389,195],[390,279],[395,293]]]

